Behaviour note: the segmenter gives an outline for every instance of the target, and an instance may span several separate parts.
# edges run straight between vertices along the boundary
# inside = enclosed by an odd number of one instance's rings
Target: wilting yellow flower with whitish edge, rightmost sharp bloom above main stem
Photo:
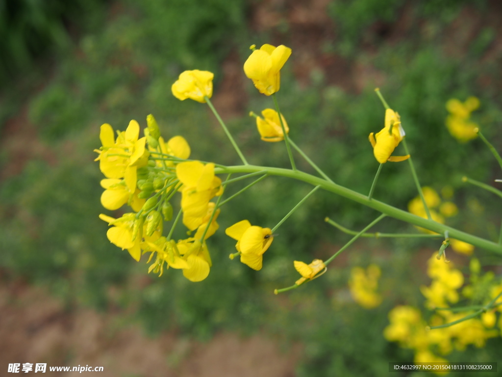
[[[399,162],[410,158],[409,154],[406,156],[391,156],[404,137],[405,131],[401,127],[399,114],[387,109],[385,112],[385,127],[374,136],[371,132],[368,137],[376,161],[383,164],[387,161]]]

